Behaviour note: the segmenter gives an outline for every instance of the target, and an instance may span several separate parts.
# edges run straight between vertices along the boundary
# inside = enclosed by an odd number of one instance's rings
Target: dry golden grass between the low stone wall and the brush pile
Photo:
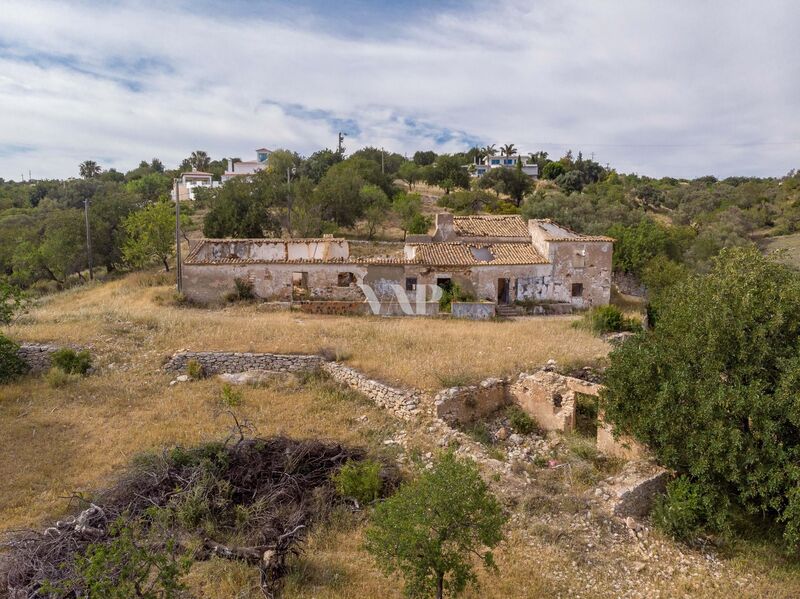
[[[2,388],[0,522],[38,525],[62,513],[65,497],[92,490],[137,453],[224,438],[233,420],[214,379],[168,386],[170,377],[134,369],[105,372],[51,389],[27,377]],[[380,443],[396,426],[354,393],[291,379],[243,389],[236,408],[260,435],[284,433],[357,445]],[[366,414],[365,423],[358,416]]]

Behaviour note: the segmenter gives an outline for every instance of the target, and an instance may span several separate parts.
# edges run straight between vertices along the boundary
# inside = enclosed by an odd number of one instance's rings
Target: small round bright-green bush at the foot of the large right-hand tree
[[[667,493],[653,507],[653,524],[680,541],[690,541],[702,531],[706,520],[703,498],[697,485],[681,476],[667,484]]]

